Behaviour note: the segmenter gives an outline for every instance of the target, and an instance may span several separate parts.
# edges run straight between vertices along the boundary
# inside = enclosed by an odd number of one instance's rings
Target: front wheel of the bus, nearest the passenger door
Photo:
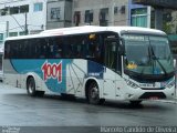
[[[104,99],[100,99],[98,86],[95,82],[92,82],[87,91],[87,100],[91,104],[103,104]]]

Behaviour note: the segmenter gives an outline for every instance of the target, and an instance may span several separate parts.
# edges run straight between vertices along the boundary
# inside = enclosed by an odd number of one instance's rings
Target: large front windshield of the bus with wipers
[[[174,72],[173,57],[166,37],[124,34],[127,72],[164,75]]]

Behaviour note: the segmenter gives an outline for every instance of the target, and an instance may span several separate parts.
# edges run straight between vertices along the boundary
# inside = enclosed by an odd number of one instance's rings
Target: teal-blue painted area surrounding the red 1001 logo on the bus
[[[62,70],[61,70],[61,78],[62,78],[62,82],[59,82],[59,78],[54,78],[52,76],[46,76],[46,80],[44,80],[44,70],[42,70],[42,66],[45,64],[48,71],[45,71],[45,73],[51,73],[51,70],[49,70],[49,68],[51,69],[53,66],[53,64],[55,65],[55,68],[58,66],[58,64],[60,64],[62,62]],[[15,71],[19,74],[25,74],[28,72],[34,72],[37,73],[41,79],[43,79],[45,81],[45,84],[48,86],[48,89],[52,92],[59,92],[59,93],[65,93],[66,91],[66,65],[72,63],[72,60],[17,60],[13,59],[11,60],[11,63],[13,65],[13,68],[15,69]],[[56,70],[54,70],[55,72]],[[54,75],[54,74],[53,74]]]

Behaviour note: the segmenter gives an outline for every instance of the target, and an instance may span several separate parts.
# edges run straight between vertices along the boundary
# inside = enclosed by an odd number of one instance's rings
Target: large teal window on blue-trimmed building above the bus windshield
[[[132,9],[131,25],[147,28],[147,8]]]

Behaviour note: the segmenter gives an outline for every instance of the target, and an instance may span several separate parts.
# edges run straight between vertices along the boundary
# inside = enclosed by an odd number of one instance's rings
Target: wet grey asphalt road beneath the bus
[[[79,132],[80,129],[91,133],[101,126],[177,126],[177,104],[145,101],[139,106],[126,102],[91,105],[84,99],[30,98],[25,90],[0,84],[0,133],[7,133],[7,126],[27,127],[28,133],[33,127],[45,129],[45,132],[50,129],[54,132],[54,127],[58,132],[59,129]]]

